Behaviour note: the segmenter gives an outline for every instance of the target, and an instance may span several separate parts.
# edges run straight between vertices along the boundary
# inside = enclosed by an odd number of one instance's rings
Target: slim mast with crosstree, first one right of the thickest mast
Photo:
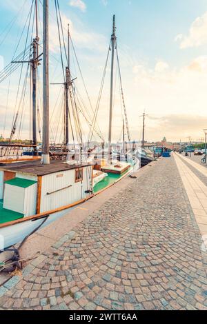
[[[66,125],[65,125],[65,142],[66,145],[69,142],[69,87],[70,87],[70,29],[68,24],[68,66],[66,66],[66,85],[65,85],[65,91],[66,91]]]

